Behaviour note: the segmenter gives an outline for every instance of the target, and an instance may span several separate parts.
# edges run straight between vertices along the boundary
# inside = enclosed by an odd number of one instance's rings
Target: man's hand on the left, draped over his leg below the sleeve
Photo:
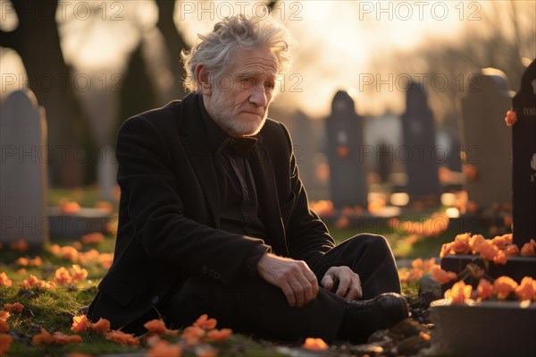
[[[281,288],[289,306],[301,308],[318,294],[318,281],[305,261],[266,253],[259,260],[257,271],[268,283]]]

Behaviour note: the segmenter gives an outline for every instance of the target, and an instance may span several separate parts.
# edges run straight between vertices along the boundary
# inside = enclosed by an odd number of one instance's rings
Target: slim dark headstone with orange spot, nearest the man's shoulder
[[[367,207],[363,149],[363,120],[354,100],[338,91],[326,119],[331,200],[335,208]]]

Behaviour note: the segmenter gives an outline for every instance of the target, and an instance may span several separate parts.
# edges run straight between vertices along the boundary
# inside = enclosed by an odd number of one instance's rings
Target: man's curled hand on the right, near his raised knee
[[[321,285],[331,292],[337,287],[335,293],[350,300],[359,300],[363,297],[361,279],[348,267],[329,268],[322,277]]]

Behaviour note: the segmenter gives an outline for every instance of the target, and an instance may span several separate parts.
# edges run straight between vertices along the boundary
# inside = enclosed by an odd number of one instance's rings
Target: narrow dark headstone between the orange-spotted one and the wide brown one
[[[398,149],[398,159],[406,163],[406,193],[412,201],[429,198],[437,200],[440,195],[440,179],[435,157],[435,123],[428,106],[426,90],[420,83],[412,82],[407,89],[402,132],[405,146]]]

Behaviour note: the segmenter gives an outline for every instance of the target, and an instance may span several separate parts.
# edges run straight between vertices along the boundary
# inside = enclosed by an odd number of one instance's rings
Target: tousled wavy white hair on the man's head
[[[213,78],[219,78],[228,68],[237,47],[269,48],[277,57],[278,74],[289,70],[292,38],[289,30],[274,21],[272,16],[260,18],[239,14],[226,17],[214,25],[213,32],[197,34],[197,37],[200,41],[196,46],[180,53],[187,73],[184,87],[189,91],[198,90],[195,74],[198,64],[204,64]]]

